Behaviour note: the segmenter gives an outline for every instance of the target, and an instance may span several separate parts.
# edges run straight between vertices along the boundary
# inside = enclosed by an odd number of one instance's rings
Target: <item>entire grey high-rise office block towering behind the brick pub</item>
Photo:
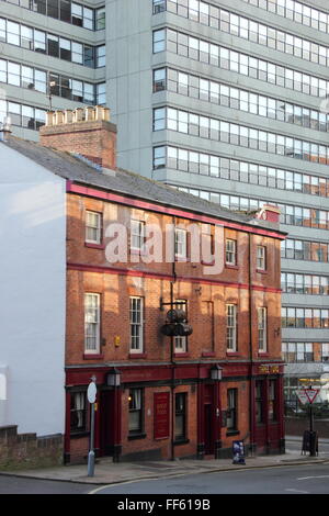
[[[49,104],[106,103],[120,166],[232,210],[279,205],[287,393],[326,373],[328,2],[12,2],[0,111],[15,131],[36,137]]]

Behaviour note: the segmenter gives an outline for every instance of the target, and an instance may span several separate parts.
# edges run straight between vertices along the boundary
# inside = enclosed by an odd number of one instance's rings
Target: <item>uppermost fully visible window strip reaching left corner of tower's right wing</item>
[[[174,54],[236,71],[237,74],[292,89],[313,97],[326,97],[329,81],[319,77],[248,56],[219,45],[209,44],[171,29],[154,31],[154,53]]]

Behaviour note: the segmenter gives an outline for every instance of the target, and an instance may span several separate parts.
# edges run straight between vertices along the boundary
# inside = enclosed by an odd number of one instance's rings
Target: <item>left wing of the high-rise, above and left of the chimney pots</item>
[[[37,139],[49,109],[104,104],[104,2],[0,1],[0,121]]]

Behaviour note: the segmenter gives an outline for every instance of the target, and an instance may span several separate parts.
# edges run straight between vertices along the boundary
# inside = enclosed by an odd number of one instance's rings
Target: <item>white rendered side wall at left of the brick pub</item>
[[[64,433],[65,180],[0,142],[0,426]]]

